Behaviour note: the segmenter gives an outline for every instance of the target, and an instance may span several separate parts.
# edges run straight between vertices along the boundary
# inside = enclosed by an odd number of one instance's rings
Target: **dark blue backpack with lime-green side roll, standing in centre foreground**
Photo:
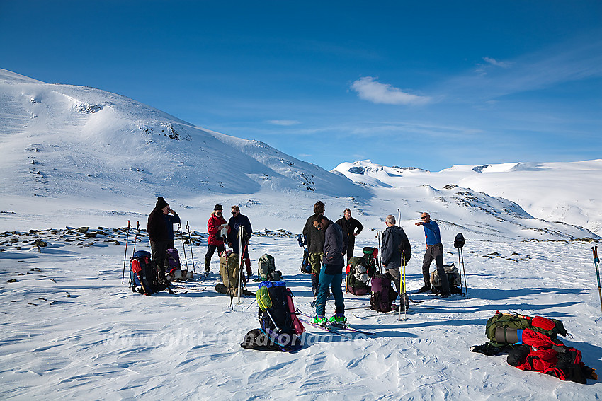
[[[305,332],[297,318],[293,296],[283,281],[264,281],[256,292],[261,328],[246,333],[241,347],[259,351],[294,352]]]

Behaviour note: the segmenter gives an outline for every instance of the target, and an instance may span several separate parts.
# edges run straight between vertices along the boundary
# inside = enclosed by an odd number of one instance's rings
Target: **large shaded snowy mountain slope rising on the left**
[[[161,195],[174,209],[201,211],[199,223],[215,203],[268,204],[262,214],[278,221],[290,209],[305,215],[317,197],[370,197],[347,178],[263,142],[194,127],[114,93],[6,70],[0,127],[3,220],[59,223],[58,213],[123,221],[132,211],[147,214]],[[40,216],[47,209],[52,213]]]

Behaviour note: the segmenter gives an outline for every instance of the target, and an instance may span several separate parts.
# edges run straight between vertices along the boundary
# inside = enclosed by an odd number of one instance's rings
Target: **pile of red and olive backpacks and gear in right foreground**
[[[470,347],[470,351],[487,356],[508,354],[509,365],[560,380],[586,384],[589,378],[598,379],[594,369],[581,361],[581,351],[557,339],[557,335],[567,336],[560,320],[496,312],[487,320],[485,335],[489,341]]]

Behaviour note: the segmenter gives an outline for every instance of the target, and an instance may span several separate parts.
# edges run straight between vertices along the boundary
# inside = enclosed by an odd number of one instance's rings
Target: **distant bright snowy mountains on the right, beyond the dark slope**
[[[602,202],[595,198],[602,160],[455,165],[436,173],[356,161],[332,171],[370,188],[370,202],[381,208],[399,207],[402,219],[435,211],[453,229],[506,238],[580,238],[592,236],[581,225],[598,232],[602,227]]]

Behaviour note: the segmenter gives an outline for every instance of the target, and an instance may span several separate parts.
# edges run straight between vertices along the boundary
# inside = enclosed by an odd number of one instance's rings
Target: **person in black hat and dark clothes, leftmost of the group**
[[[169,214],[171,213],[171,216]],[[174,224],[180,222],[178,214],[171,210],[169,204],[162,197],[157,198],[157,204],[149,214],[147,231],[151,244],[152,261],[159,272],[159,283],[165,281],[165,269],[169,267],[166,251],[174,248]]]

